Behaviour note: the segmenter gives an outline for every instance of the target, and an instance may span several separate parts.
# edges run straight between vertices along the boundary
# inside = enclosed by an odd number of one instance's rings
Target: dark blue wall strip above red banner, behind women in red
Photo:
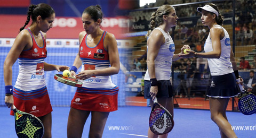
[[[123,15],[123,10],[118,8],[118,0],[31,0],[30,3],[49,4],[55,10],[56,16],[77,16],[71,8],[72,5],[82,14],[86,7],[97,4],[101,5],[103,14],[106,17]],[[0,14],[26,14],[27,10],[27,7],[0,7]]]

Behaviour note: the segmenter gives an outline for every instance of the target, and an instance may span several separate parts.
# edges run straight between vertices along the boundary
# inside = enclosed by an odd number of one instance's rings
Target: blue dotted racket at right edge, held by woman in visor
[[[239,80],[237,80],[239,82]],[[238,108],[244,115],[252,115],[256,113],[256,96],[244,90],[243,85],[238,84],[241,90],[238,98]]]

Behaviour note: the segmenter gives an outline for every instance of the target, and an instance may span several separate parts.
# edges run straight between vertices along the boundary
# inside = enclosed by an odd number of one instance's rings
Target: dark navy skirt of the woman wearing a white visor
[[[212,98],[230,98],[238,96],[240,90],[236,84],[234,73],[229,73],[220,76],[212,76],[212,82],[208,97]]]

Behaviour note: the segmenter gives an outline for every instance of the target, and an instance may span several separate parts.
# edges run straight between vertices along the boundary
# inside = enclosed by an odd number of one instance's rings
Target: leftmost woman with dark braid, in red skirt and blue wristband
[[[25,29],[32,19],[31,25]],[[44,136],[51,137],[52,106],[46,88],[44,71],[64,71],[68,66],[59,66],[44,62],[47,56],[46,32],[52,28],[55,12],[50,5],[31,4],[27,12],[27,21],[20,28],[18,36],[4,61],[5,104],[42,120]],[[12,66],[19,61],[19,75],[12,86]],[[34,110],[33,110],[34,109]],[[11,111],[13,115],[13,111]]]

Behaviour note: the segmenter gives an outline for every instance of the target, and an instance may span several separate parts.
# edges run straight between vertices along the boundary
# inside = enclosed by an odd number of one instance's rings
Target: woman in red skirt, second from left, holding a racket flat
[[[120,68],[117,42],[112,33],[101,29],[100,5],[85,8],[82,22],[85,31],[79,33],[79,51],[70,72],[83,85],[77,88],[71,101],[67,133],[68,137],[82,137],[85,122],[91,114],[88,137],[102,137],[110,111],[117,110],[119,88],[110,77]],[[81,72],[76,74],[81,66]]]

